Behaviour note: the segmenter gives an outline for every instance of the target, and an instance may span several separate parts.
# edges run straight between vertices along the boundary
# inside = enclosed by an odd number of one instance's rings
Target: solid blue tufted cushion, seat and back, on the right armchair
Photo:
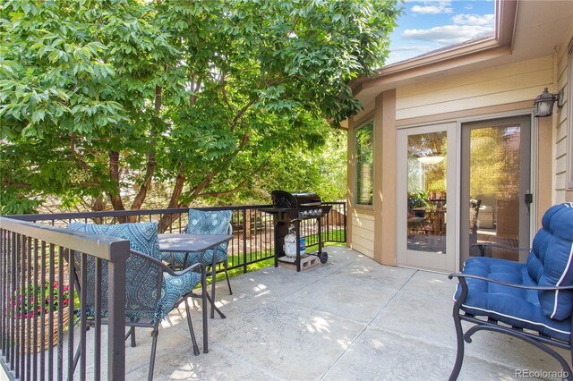
[[[526,264],[498,258],[470,258],[463,273],[510,284],[570,285],[573,206],[551,207],[542,224]],[[571,292],[538,292],[477,279],[466,278],[466,281],[468,293],[462,306],[466,312],[569,340]],[[460,290],[458,285],[455,300]]]

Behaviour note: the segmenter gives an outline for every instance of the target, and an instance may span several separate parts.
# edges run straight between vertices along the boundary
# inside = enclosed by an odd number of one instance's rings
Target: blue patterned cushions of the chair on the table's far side
[[[232,212],[230,210],[202,211],[189,209],[189,224],[187,225],[187,234],[227,234],[229,223],[231,222]],[[213,263],[214,250],[206,250],[203,255],[203,264],[210,265]],[[172,262],[175,259],[176,266],[190,266],[199,262],[201,252],[192,251],[187,255],[184,263],[185,253],[162,252],[161,259]],[[215,263],[227,262],[227,242],[222,243],[217,248]]]

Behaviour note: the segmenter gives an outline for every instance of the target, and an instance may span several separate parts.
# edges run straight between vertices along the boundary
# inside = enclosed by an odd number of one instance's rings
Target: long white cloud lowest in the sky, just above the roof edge
[[[453,45],[491,32],[481,25],[444,25],[429,30],[405,30],[402,36],[423,41],[435,41],[442,45]]]

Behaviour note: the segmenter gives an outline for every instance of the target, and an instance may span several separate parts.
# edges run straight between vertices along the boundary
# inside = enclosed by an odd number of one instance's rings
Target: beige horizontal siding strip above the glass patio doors
[[[464,75],[445,76],[397,91],[397,119],[459,112],[534,99],[553,82],[553,56]]]

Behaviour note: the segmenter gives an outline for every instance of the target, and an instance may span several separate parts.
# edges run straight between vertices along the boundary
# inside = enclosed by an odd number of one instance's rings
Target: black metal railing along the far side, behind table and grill
[[[322,217],[321,234],[323,242],[346,242],[346,203],[324,202],[332,207]],[[272,216],[261,211],[270,205],[231,206],[231,207],[197,207],[201,210],[231,210],[233,216],[233,239],[227,249],[228,268],[248,271],[249,265],[274,257],[274,226]],[[12,218],[39,224],[66,226],[74,221],[95,224],[117,224],[121,222],[158,222],[160,232],[183,233],[188,223],[189,208],[124,210],[106,212],[62,213],[43,215],[19,215]],[[301,222],[301,236],[306,238],[306,246],[318,245],[317,220]],[[219,268],[222,270],[222,268]]]

